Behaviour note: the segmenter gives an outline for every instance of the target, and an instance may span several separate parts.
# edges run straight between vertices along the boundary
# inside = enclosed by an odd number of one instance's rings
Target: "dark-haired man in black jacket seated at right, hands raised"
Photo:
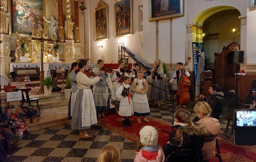
[[[209,93],[211,94],[209,98],[203,95],[200,95],[200,98],[210,105],[212,109],[211,116],[215,119],[219,119],[219,115],[221,115],[223,109],[224,94],[221,92],[221,87],[218,84],[213,84],[209,89]]]

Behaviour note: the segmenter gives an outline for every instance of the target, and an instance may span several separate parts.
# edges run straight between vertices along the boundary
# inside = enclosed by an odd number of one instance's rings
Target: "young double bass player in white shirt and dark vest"
[[[177,63],[177,68],[178,68],[178,70],[176,71],[176,74],[173,75],[173,78],[169,81],[169,83],[173,84],[173,85],[176,85],[176,88],[178,89],[177,85],[179,85],[178,83],[179,83],[180,79],[182,78],[183,72],[184,72],[184,75],[186,75],[187,77],[189,77],[190,74],[187,71],[187,67],[183,66],[183,64],[181,62]],[[175,81],[176,81],[176,84],[174,83]],[[176,89],[176,88],[174,88],[174,89]],[[179,105],[179,107],[185,108],[186,106],[185,105]]]

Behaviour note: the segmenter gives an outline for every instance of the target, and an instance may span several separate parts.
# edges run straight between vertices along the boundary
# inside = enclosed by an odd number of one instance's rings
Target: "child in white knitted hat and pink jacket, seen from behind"
[[[157,145],[158,133],[152,126],[145,126],[140,131],[140,142],[136,148],[134,162],[164,162],[162,147]]]

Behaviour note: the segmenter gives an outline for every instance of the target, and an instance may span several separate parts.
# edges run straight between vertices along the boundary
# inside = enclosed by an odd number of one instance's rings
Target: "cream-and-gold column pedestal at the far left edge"
[[[10,40],[9,35],[6,34],[1,34],[0,60],[0,73],[4,75],[10,75]]]

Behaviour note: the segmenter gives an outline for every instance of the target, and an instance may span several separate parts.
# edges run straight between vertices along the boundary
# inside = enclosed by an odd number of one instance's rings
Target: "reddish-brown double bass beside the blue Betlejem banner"
[[[185,63],[185,66],[191,61],[191,58],[188,57],[188,60]],[[189,92],[190,80],[184,74],[185,70],[183,69],[181,79],[178,81],[178,91],[176,92],[175,101],[178,105],[187,105],[189,103]]]

